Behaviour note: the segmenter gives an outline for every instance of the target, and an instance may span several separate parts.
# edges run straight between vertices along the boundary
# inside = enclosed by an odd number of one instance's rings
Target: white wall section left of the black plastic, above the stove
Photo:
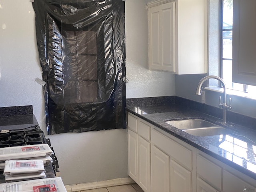
[[[0,1],[0,106],[33,105],[43,119],[42,86],[31,2]]]

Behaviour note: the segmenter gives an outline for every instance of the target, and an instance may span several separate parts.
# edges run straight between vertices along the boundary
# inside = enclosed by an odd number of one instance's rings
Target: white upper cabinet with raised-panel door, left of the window
[[[207,72],[207,0],[157,0],[148,6],[149,67]]]

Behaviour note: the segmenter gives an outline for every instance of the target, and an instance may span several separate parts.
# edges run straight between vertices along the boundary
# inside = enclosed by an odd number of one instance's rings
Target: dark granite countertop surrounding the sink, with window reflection
[[[180,104],[126,106],[126,110],[206,154],[256,179],[256,130],[238,124],[224,125],[222,119],[192,110]],[[166,123],[177,118],[202,118],[232,129],[234,134],[194,136]],[[255,142],[253,142],[255,141]]]

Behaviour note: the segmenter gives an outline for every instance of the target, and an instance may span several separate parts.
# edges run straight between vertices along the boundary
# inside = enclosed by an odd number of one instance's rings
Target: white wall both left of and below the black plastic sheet
[[[0,107],[33,105],[46,133],[42,79],[29,0],[0,1]],[[64,184],[128,177],[127,130],[103,130],[48,136]]]

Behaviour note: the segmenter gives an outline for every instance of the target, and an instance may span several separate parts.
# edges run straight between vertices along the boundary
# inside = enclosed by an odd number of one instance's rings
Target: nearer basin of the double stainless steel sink
[[[195,128],[195,129],[187,129],[183,131],[191,135],[202,136],[202,137],[232,133],[232,130],[228,130],[223,127]]]

